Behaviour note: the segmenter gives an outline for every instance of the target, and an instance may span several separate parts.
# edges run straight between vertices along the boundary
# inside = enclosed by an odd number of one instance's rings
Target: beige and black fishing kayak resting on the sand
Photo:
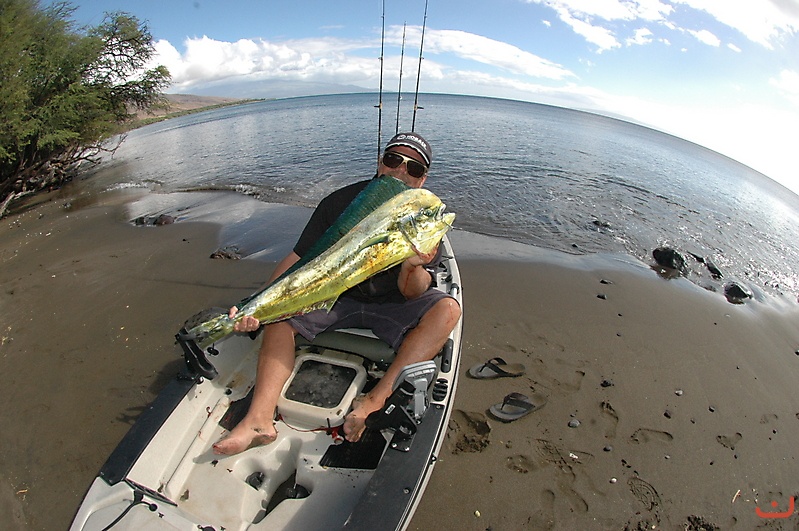
[[[434,285],[463,307],[448,238],[442,246]],[[212,445],[247,412],[260,338],[231,334],[202,349],[182,330],[184,368],[112,452],[70,529],[405,529],[446,435],[462,319],[434,360],[403,369],[357,443],[344,440],[344,417],[393,350],[369,330],[297,336],[277,440],[234,456]]]

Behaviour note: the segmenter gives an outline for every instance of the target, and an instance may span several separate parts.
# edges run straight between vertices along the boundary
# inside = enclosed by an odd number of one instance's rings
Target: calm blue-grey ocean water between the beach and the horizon
[[[98,189],[233,190],[312,207],[374,174],[377,95],[273,100],[175,118],[130,132],[88,173]],[[410,129],[412,97],[400,130]],[[532,103],[420,95],[416,130],[433,146],[426,187],[456,227],[567,253],[658,246],[689,258],[707,289],[736,281],[796,302],[799,197],[727,157],[639,125]],[[382,139],[396,94],[384,95]],[[235,215],[235,214],[234,214]],[[702,261],[724,274],[711,281]]]

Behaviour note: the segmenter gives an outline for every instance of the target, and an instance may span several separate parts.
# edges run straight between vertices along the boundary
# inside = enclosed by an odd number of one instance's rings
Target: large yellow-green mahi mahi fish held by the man
[[[204,346],[232,332],[245,315],[268,324],[330,310],[349,288],[417,252],[433,252],[455,219],[445,208],[428,190],[409,188],[393,177],[373,179],[320,242],[269,286],[242,301],[234,318],[223,314],[193,327],[187,324],[186,336]]]

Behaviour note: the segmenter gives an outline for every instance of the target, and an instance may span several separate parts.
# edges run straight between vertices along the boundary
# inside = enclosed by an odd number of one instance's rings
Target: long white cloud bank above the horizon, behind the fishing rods
[[[405,72],[418,68],[418,42],[421,27],[408,27]],[[399,46],[402,27],[386,32],[387,50],[393,45],[396,54],[385,53],[385,72],[389,78],[399,72]],[[413,43],[416,43],[415,45]],[[379,79],[380,62],[364,58],[359,52],[372,52],[379,41],[323,37],[270,42],[242,39],[224,42],[208,37],[186,39],[181,53],[168,41],[155,45],[154,63],[165,65],[172,74],[173,87],[191,86],[230,77],[259,80],[281,79],[356,84],[373,87]],[[416,47],[414,50],[414,46]],[[409,53],[409,50],[414,52]],[[424,52],[428,56],[450,54],[505,70],[511,74],[549,80],[575,77],[568,69],[510,44],[454,30],[430,30],[425,34]],[[422,64],[425,76],[443,76],[440,65],[429,60]]]

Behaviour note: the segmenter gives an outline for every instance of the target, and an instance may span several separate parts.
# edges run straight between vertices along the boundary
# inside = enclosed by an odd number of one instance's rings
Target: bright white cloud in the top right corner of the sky
[[[674,0],[773,48],[774,41],[799,32],[799,6],[791,0]]]

